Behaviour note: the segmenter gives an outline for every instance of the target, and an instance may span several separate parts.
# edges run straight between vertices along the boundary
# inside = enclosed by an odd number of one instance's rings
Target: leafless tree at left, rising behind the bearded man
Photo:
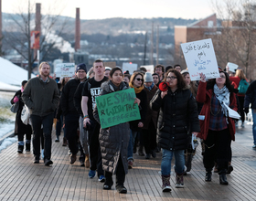
[[[38,63],[48,55],[48,52],[51,48],[54,48],[58,40],[55,38],[48,39],[50,36],[61,36],[64,28],[67,25],[68,17],[60,17],[61,10],[56,12],[55,15],[51,15],[53,12],[52,7],[59,7],[57,5],[58,1],[52,1],[50,7],[46,10],[48,14],[41,16],[41,27],[40,27],[40,48],[39,52],[40,58]],[[21,4],[23,5],[23,4]],[[30,31],[35,30],[35,8],[36,4],[33,2],[30,3],[30,0],[27,0],[27,12],[24,12],[24,7],[19,7],[16,14],[10,14],[12,23],[11,26],[6,27],[6,36],[4,37],[5,42],[11,48],[15,49],[18,54],[25,58],[28,62],[28,79],[31,78],[31,70],[33,63],[37,60],[37,53],[35,54],[33,49],[30,48]],[[58,30],[58,31],[55,31]],[[50,43],[48,42],[50,41]]]

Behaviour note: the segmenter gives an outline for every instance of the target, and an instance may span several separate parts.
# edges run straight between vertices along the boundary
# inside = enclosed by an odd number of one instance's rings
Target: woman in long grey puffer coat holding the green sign
[[[110,80],[101,85],[101,96],[118,90],[129,89],[127,84],[122,80],[122,69],[113,68],[110,72]],[[139,101],[136,99],[135,102]],[[93,116],[97,122],[101,123],[97,105],[93,111]],[[112,174],[115,174],[116,189],[121,194],[127,193],[127,189],[123,184],[125,175],[128,173],[127,147],[129,139],[129,122],[119,123],[105,129],[101,128],[99,142],[101,146],[102,167],[106,177],[103,185],[103,189],[105,190],[112,188]]]

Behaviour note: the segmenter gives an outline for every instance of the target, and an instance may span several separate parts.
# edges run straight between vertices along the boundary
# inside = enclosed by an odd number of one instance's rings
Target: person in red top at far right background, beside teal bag
[[[235,83],[235,89],[238,89],[240,86],[240,80],[241,79],[246,79],[242,69],[237,69],[236,70],[236,75],[235,77],[230,77],[230,81]],[[247,80],[247,79],[246,79]],[[244,111],[243,111],[243,103],[244,103],[244,97],[245,97],[245,93],[238,93],[238,98],[239,98],[239,102],[240,102],[240,119],[241,119],[241,127],[244,128]]]

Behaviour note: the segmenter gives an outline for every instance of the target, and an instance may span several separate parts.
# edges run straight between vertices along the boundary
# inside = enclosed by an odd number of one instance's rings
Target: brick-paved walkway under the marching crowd
[[[54,139],[54,137],[53,137]],[[175,188],[175,175],[171,176],[171,193],[162,193],[159,175],[161,153],[156,159],[145,160],[135,155],[134,168],[129,170],[125,186],[126,195],[115,187],[102,190],[97,178],[88,177],[89,169],[79,162],[69,164],[68,148],[62,142],[53,142],[52,160],[47,167],[33,164],[32,153],[16,153],[16,144],[0,153],[0,200],[256,200],[256,151],[251,149],[251,126],[238,129],[237,140],[232,143],[234,171],[228,175],[229,185],[219,185],[219,175],[205,182],[201,147],[197,147],[192,170],[185,176],[185,188]],[[172,169],[173,170],[173,169]]]

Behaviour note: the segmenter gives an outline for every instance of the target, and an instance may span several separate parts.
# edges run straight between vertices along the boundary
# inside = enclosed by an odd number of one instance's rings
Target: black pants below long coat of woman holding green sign
[[[106,177],[105,185],[112,185],[113,184],[112,173],[105,171],[105,177]],[[117,163],[117,167],[116,167],[116,186],[117,185],[123,186],[124,181],[125,181],[125,172],[123,168],[122,158],[120,156]]]

